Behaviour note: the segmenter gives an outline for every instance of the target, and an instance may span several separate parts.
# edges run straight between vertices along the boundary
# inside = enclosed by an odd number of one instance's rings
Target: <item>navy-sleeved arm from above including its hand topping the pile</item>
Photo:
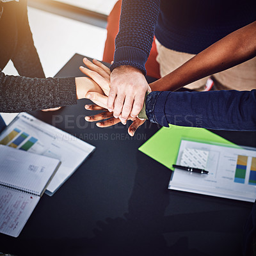
[[[108,109],[125,124],[143,107],[148,83],[145,63],[152,47],[160,0],[122,0],[119,32],[111,65]]]

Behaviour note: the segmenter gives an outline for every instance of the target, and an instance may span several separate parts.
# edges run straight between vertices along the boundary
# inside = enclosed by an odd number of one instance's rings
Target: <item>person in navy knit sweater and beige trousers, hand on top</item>
[[[159,45],[157,61],[163,77],[193,57],[193,54],[198,54],[229,33],[253,22],[256,19],[255,8],[254,0],[122,0],[120,29],[111,66],[109,111],[113,111],[116,118],[121,115],[123,124],[130,114],[134,117],[140,112],[148,90],[144,77],[145,62],[154,35],[159,43],[156,44]],[[179,62],[180,58],[183,62]],[[255,88],[256,76],[253,70],[256,61],[243,65],[246,68],[240,68],[231,76],[230,73],[228,76],[224,74],[233,69],[221,73],[221,76],[218,74],[223,88]],[[250,79],[244,83],[241,77],[248,76]]]

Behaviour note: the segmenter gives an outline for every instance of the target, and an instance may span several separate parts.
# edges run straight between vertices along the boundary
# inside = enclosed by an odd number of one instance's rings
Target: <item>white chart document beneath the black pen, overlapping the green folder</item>
[[[185,165],[184,161],[188,163],[188,157],[184,157],[184,154],[188,154],[188,148],[189,151],[192,150],[195,161],[186,166],[204,168],[209,173],[191,173],[175,168],[169,189],[248,202],[255,201],[255,150],[182,140],[176,164]],[[195,150],[201,155],[204,154],[204,157],[196,156]],[[198,160],[206,160],[206,163],[196,164]],[[202,161],[200,161],[201,164]]]

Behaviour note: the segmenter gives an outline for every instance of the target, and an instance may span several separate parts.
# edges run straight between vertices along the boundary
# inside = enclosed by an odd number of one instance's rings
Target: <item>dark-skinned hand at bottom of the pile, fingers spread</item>
[[[98,127],[102,127],[102,128],[109,127],[109,126],[118,124],[120,122],[120,119],[115,118],[113,116],[113,112],[109,112],[108,109],[104,109],[97,105],[85,105],[84,108],[87,110],[104,110],[104,112],[99,113],[97,115],[85,117],[85,120],[88,122],[100,121],[99,123],[96,124]],[[128,128],[128,134],[130,136],[134,136],[134,133],[136,132],[138,127],[140,127],[140,125],[142,125],[145,122],[145,120],[140,120],[139,118],[131,118],[131,116],[129,117],[129,120],[132,120],[133,122]]]

